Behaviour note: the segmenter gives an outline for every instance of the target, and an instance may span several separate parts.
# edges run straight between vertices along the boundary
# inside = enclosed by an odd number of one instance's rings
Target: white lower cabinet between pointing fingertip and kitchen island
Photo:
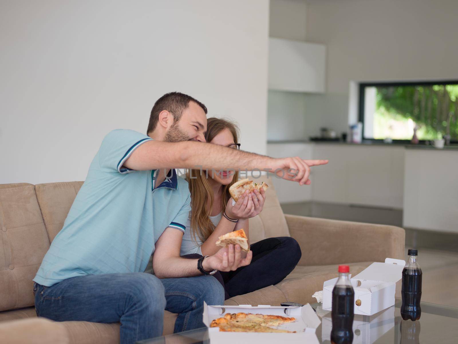
[[[313,200],[402,209],[403,147],[315,144],[314,159],[329,159],[313,167]]]

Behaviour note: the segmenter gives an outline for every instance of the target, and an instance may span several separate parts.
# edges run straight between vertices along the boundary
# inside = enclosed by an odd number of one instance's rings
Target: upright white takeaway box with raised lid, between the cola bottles
[[[396,282],[402,277],[405,261],[387,258],[375,262],[350,279],[354,289],[354,314],[371,316],[394,305]],[[351,277],[351,276],[350,276]],[[323,310],[332,309],[333,288],[337,278],[323,283]],[[360,301],[360,305],[356,303]],[[359,303],[359,302],[358,302]]]

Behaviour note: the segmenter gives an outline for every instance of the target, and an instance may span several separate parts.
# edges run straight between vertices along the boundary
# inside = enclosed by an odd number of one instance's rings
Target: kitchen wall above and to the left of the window
[[[350,80],[458,78],[455,0],[307,0],[306,39],[327,46],[327,94],[307,113],[338,132],[348,124]],[[319,127],[316,127],[316,131]]]

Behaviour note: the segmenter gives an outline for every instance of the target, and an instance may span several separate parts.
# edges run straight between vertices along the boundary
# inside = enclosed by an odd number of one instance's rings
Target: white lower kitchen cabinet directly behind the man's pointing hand
[[[267,155],[273,158],[300,156],[303,159],[311,159],[312,144],[267,144]],[[312,173],[314,172],[312,171]],[[312,190],[310,185],[299,185],[299,183],[276,178],[275,176],[272,176],[272,182],[280,203],[311,201]]]

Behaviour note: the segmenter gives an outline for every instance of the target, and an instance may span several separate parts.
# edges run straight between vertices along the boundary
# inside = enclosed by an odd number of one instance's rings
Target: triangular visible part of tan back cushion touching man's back
[[[64,226],[65,218],[82,184],[83,182],[62,182],[35,185],[49,242],[52,243]]]

